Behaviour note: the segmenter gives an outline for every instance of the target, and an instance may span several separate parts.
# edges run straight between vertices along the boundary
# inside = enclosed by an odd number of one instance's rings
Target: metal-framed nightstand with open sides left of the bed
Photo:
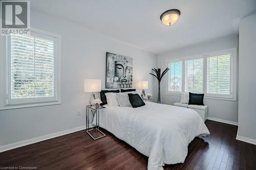
[[[86,128],[89,129],[89,123],[90,123],[90,113],[92,112],[94,116],[96,116],[96,126],[92,127],[91,129],[87,130],[86,132],[93,138],[93,140],[102,138],[104,136],[106,136],[103,132],[101,132],[99,130],[99,111],[102,111],[103,109],[105,109],[105,107],[103,106],[99,106],[99,108],[96,108],[96,106],[86,106]],[[98,137],[94,137],[92,132],[93,131],[97,131],[99,132],[101,135]]]

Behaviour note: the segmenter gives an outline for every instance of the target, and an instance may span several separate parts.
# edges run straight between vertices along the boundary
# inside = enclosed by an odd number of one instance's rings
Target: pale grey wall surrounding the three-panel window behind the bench
[[[186,39],[184,39],[185,41]],[[225,50],[228,48],[238,47],[238,36],[230,35],[222,38],[217,38],[211,41],[194,44],[191,46],[179,48],[165,52],[158,56],[158,66],[166,68],[166,60],[187,57],[207,52]],[[238,57],[238,56],[237,56]],[[173,104],[180,102],[180,96],[166,94],[166,79],[161,82],[161,102],[164,104]],[[208,105],[208,116],[238,122],[238,101],[224,101],[214,99],[204,99],[205,105]]]

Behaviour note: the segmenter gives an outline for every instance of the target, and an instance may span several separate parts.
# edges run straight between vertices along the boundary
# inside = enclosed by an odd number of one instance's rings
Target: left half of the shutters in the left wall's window
[[[11,36],[11,99],[34,95],[34,38]]]

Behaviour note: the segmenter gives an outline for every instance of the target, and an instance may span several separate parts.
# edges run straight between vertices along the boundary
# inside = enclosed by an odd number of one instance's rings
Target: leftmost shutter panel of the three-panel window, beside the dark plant
[[[182,61],[169,62],[168,91],[182,90]]]

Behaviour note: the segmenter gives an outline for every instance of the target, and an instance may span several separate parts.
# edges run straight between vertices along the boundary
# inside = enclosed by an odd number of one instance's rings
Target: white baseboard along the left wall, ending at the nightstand
[[[39,142],[39,141],[51,139],[51,138],[54,138],[54,137],[66,135],[66,134],[73,133],[73,132],[77,132],[77,131],[84,130],[84,129],[86,129],[86,125],[76,127],[76,128],[72,128],[72,129],[68,129],[68,130],[64,130],[64,131],[60,131],[60,132],[56,132],[56,133],[52,133],[52,134],[48,134],[48,135],[44,135],[44,136],[39,136],[39,137],[27,139],[27,140],[22,140],[22,141],[10,143],[10,144],[7,144],[7,145],[0,146],[0,153],[4,152],[4,151],[15,149],[15,148],[23,147],[23,146],[28,145],[28,144],[32,144],[32,143],[36,143],[36,142]]]

